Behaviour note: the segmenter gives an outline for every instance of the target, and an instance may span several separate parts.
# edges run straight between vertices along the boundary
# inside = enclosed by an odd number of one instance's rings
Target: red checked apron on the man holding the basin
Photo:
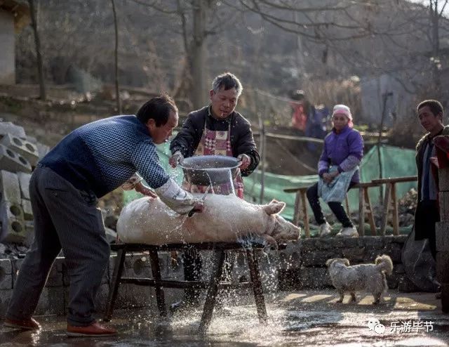
[[[196,148],[194,155],[225,155],[227,157],[232,157],[231,122],[229,122],[227,131],[209,130],[206,128],[206,122],[204,122],[203,136],[201,136],[201,140],[199,141],[198,148]],[[236,177],[232,183],[236,195],[243,199],[243,179],[241,178],[240,169],[237,170]],[[190,184],[184,179],[182,188],[188,192],[204,193],[208,187],[205,185]],[[232,186],[230,183],[214,185],[212,190],[214,194],[229,195],[232,193]]]

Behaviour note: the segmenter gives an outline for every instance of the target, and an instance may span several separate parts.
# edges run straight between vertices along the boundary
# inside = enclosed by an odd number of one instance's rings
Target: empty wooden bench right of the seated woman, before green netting
[[[396,183],[417,181],[417,176],[404,176],[394,178],[380,178],[373,180],[373,183],[385,184],[384,204],[382,211],[382,224],[380,225],[380,235],[385,235],[388,222],[388,212],[393,212],[393,234],[399,235],[398,199],[396,195]]]

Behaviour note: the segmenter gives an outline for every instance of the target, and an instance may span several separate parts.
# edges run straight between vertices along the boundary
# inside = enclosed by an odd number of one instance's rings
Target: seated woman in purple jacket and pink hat
[[[332,114],[333,129],[324,138],[323,152],[318,163],[318,174],[324,183],[331,183],[335,177],[344,171],[354,170],[363,157],[363,139],[358,131],[352,129],[351,110],[346,105],[335,105]],[[337,166],[332,171],[330,166]],[[349,183],[349,189],[360,181],[358,169],[354,172]],[[320,236],[330,234],[330,225],[324,218],[319,202],[318,183],[307,190],[307,199],[314,211],[316,223],[320,227]],[[342,230],[337,236],[358,237],[357,229],[351,222],[341,202],[328,202],[338,221],[342,223]]]

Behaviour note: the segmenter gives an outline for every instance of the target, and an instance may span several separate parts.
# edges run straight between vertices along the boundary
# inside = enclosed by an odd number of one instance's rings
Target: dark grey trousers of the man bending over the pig
[[[70,279],[67,322],[90,325],[110,253],[98,201],[43,166],[34,170],[29,194],[34,241],[20,266],[6,317],[32,317],[51,266],[62,249]]]

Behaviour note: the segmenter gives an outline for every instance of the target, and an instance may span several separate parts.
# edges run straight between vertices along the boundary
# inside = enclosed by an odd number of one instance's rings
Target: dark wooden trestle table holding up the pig
[[[214,251],[213,271],[208,282],[201,281],[181,281],[181,280],[162,280],[161,268],[159,266],[158,251],[182,251],[186,249],[199,249]],[[207,331],[210,320],[212,320],[213,308],[217,299],[219,288],[236,289],[236,288],[252,288],[254,293],[255,305],[257,308],[257,315],[260,322],[266,322],[267,309],[265,308],[264,295],[262,292],[262,282],[260,280],[260,273],[257,263],[257,252],[264,249],[264,244],[253,243],[250,247],[243,248],[239,243],[201,243],[201,244],[166,244],[163,246],[152,246],[149,244],[111,244],[112,251],[117,252],[116,263],[114,266],[114,273],[112,275],[111,287],[109,289],[109,297],[107,299],[107,308],[104,320],[109,321],[114,310],[114,303],[116,301],[119,284],[132,283],[138,285],[145,285],[155,287],[156,302],[159,309],[159,314],[162,317],[167,315],[165,297],[163,288],[178,288],[178,289],[208,289],[206,295],[206,302],[204,303],[203,314],[199,325],[199,332]],[[125,262],[126,253],[148,251],[149,260],[152,266],[153,278],[138,278],[138,277],[121,277],[123,273],[123,263]],[[245,251],[248,260],[248,268],[250,270],[250,282],[241,282],[232,284],[229,282],[220,282],[223,273],[223,266],[225,261],[225,251]]]

